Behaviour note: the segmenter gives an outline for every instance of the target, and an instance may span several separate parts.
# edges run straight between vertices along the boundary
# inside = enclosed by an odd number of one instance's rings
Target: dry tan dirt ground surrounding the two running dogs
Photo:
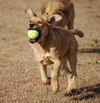
[[[82,30],[79,43],[76,94],[64,95],[67,78],[61,75],[60,90],[41,83],[38,66],[27,38],[25,8],[40,15],[46,0],[0,0],[0,103],[100,103],[100,0],[73,0],[75,28]]]

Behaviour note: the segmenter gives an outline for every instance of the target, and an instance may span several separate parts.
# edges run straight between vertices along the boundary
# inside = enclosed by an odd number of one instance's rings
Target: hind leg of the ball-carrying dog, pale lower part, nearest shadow
[[[76,72],[76,65],[77,65],[77,50],[71,50],[69,52],[69,63],[71,68],[71,74],[68,75],[68,87],[66,93],[71,92],[74,89],[77,89],[78,77]]]

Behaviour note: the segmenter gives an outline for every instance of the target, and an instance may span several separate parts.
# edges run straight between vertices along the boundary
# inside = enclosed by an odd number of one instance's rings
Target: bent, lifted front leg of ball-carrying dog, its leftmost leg
[[[50,80],[48,80],[48,78],[47,78],[47,66],[43,65],[42,63],[38,63],[38,65],[40,68],[42,83],[45,85],[50,84]]]

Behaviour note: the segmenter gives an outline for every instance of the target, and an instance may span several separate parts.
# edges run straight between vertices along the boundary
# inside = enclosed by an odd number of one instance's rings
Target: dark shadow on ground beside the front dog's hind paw
[[[72,91],[68,95],[65,94],[65,96],[73,96],[72,98],[73,100],[80,100],[80,101],[92,98],[99,98],[100,84],[79,88],[76,91]]]

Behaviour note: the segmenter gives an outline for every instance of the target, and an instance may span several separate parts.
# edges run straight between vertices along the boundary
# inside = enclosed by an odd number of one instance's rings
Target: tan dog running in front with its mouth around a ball
[[[59,73],[63,68],[68,77],[68,86],[65,93],[77,89],[78,76],[76,72],[78,43],[73,32],[59,26],[48,24],[38,17],[31,9],[25,12],[30,16],[29,29],[38,30],[41,34],[35,42],[30,40],[34,56],[40,69],[43,84],[51,83],[56,93],[59,90]],[[69,61],[70,69],[68,69]],[[47,66],[53,64],[51,80],[47,76]]]

